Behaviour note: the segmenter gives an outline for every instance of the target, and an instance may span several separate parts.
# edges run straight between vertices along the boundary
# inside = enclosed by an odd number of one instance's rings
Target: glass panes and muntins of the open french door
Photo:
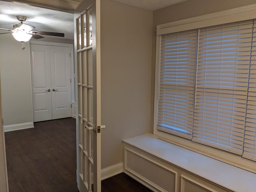
[[[92,6],[76,20],[78,70],[79,176],[86,188],[93,189],[93,81],[92,81]]]

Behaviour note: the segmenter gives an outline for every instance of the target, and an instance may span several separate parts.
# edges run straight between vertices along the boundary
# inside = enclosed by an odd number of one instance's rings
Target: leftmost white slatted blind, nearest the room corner
[[[197,30],[161,36],[157,129],[192,138]]]

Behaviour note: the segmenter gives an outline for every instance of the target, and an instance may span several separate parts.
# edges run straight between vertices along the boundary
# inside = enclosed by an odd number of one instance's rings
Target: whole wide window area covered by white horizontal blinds
[[[160,39],[157,130],[256,160],[255,21]]]

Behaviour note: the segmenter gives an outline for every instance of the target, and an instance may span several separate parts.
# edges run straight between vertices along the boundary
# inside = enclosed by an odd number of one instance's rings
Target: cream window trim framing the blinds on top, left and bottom
[[[202,28],[207,26],[214,26],[218,24],[225,24],[231,22],[237,22],[242,20],[249,20],[256,18],[256,4],[244,6],[240,8],[234,8],[230,10],[225,10],[221,12],[216,12],[212,14],[207,14],[204,16],[198,16],[194,18],[189,18],[185,20],[170,22],[167,24],[161,24],[157,26],[156,30],[156,70],[155,70],[155,98],[154,98],[154,135],[159,138],[166,140],[170,143],[176,144],[178,146],[187,148],[189,150],[204,154],[211,158],[226,162],[228,164],[237,166],[239,168],[248,170],[250,172],[256,173],[256,162],[242,158],[228,152],[224,152],[219,149],[215,149],[209,146],[204,146],[203,144],[198,144],[167,134],[157,130],[157,110],[158,110],[158,72],[160,66],[160,40],[162,34],[168,34],[173,32],[179,32],[184,30],[190,30],[195,28]]]

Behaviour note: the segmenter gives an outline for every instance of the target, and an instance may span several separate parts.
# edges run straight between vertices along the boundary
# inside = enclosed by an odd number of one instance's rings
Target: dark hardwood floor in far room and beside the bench
[[[34,123],[5,133],[10,192],[78,192],[76,120]],[[102,181],[102,192],[151,192],[126,174]]]

